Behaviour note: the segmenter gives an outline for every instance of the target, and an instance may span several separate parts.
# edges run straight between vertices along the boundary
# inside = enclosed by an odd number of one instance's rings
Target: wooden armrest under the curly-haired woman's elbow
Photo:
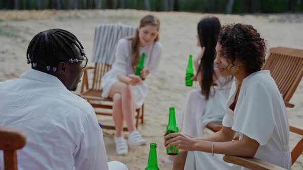
[[[245,158],[245,157],[239,157],[239,156],[230,156],[225,155],[223,157],[223,160],[228,163],[237,164],[249,169],[276,169],[276,170],[285,170],[285,168],[282,168],[280,166],[277,166],[275,164],[271,164],[269,162],[263,161],[258,158]]]

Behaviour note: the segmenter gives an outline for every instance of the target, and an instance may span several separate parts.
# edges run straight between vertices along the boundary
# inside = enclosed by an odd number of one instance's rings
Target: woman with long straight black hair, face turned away
[[[177,113],[177,124],[181,133],[192,137],[203,137],[203,129],[212,121],[222,121],[228,99],[232,77],[221,77],[214,66],[215,47],[221,30],[217,17],[205,17],[197,25],[197,46],[200,54],[194,58],[194,67],[201,89],[191,90],[181,112]],[[216,86],[213,86],[213,84]],[[168,156],[164,163],[172,163]]]

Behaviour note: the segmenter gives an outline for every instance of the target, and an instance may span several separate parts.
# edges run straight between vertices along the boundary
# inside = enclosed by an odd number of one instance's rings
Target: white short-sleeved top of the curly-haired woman
[[[260,145],[255,157],[286,169],[291,168],[289,124],[282,96],[270,71],[258,71],[246,77],[233,112],[239,82],[233,83],[222,124],[256,140]]]

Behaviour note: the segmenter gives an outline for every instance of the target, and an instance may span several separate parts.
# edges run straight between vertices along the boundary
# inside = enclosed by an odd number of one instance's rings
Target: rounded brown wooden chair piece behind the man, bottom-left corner
[[[26,144],[24,132],[14,128],[0,128],[0,150],[3,150],[4,169],[17,170],[17,151]],[[1,162],[1,161],[0,161]]]

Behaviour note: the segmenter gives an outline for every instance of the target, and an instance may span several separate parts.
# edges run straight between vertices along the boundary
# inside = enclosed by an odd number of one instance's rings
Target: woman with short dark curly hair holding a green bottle
[[[173,169],[183,169],[184,164],[185,169],[234,169],[208,153],[256,157],[290,169],[285,104],[270,71],[261,71],[266,55],[264,39],[251,25],[226,25],[219,35],[216,54],[220,75],[235,77],[223,128],[204,138],[166,135],[164,141],[172,138],[165,142],[166,147],[177,145],[176,149],[183,150]],[[232,141],[236,132],[240,139]]]

